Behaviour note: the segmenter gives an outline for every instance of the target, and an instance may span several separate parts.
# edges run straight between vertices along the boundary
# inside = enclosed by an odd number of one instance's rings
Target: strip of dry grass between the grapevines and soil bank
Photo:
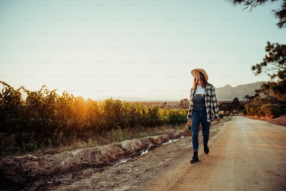
[[[96,147],[100,145],[111,144],[113,142],[122,142],[130,139],[137,139],[155,135],[162,135],[170,131],[177,131],[183,129],[184,124],[180,126],[164,125],[153,128],[129,128],[129,129],[112,129],[111,131],[104,131],[101,135],[91,135],[86,138],[77,137],[76,135],[64,135],[63,133],[57,134],[55,137],[48,140],[49,145],[33,145],[29,149],[19,149],[13,146],[14,142],[11,137],[0,136],[0,156],[19,156],[24,154],[32,154],[41,156],[45,154],[62,153],[65,151],[72,151],[74,149],[84,149]],[[44,142],[44,141],[43,141]],[[23,145],[22,145],[23,146]],[[12,149],[13,148],[13,149]],[[25,147],[24,147],[25,148]]]

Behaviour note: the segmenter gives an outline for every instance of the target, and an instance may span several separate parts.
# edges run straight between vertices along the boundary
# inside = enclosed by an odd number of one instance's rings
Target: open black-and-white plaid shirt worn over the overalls
[[[194,94],[195,90],[191,90],[191,95],[190,95],[190,108],[188,111],[187,119],[190,119],[192,116],[192,110],[194,107]],[[215,118],[219,118],[219,106],[217,105],[217,98],[215,96],[215,87],[212,84],[206,84],[206,96],[205,96],[205,101],[206,101],[206,113],[208,114],[208,122],[212,121],[214,118],[213,113],[215,112]]]

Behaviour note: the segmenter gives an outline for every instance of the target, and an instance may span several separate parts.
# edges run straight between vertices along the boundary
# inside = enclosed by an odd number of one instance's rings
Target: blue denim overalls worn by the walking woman
[[[208,143],[208,138],[210,135],[210,122],[207,121],[208,118],[206,113],[205,93],[206,90],[204,90],[204,94],[195,94],[193,98],[194,107],[191,116],[191,129],[194,151],[198,150],[198,130],[200,123],[202,123],[202,141],[204,143]]]

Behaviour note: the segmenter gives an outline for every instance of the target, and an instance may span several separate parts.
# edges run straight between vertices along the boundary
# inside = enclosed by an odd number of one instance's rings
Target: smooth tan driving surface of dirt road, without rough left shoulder
[[[217,131],[209,141],[211,152],[200,149],[199,164],[180,164],[180,173],[167,171],[158,181],[167,184],[155,183],[150,190],[286,189],[285,127],[234,117]]]

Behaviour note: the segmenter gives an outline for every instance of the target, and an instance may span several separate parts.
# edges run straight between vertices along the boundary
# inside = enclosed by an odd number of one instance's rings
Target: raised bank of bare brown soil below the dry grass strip
[[[83,169],[110,166],[122,159],[141,155],[147,149],[151,151],[162,143],[178,139],[182,135],[183,132],[171,132],[41,157],[32,155],[5,157],[0,162],[1,177],[5,179],[5,182],[27,186],[41,178],[55,175],[59,177],[60,174],[80,172]]]

